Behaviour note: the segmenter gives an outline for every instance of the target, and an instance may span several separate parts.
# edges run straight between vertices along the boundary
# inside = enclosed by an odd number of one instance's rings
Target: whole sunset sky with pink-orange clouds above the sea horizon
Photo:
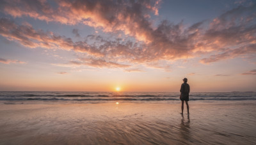
[[[256,1],[3,0],[1,91],[255,91]]]

